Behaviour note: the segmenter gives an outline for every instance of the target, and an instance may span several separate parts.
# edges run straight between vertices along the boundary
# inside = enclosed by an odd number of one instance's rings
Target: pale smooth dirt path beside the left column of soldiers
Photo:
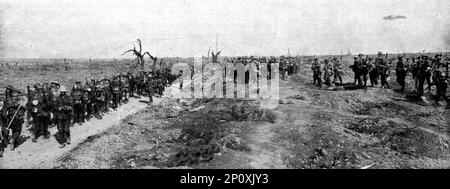
[[[54,137],[48,140],[41,138],[37,143],[32,143],[28,138],[25,143],[20,145],[14,151],[5,150],[3,158],[0,158],[0,168],[53,168],[54,163],[59,157],[65,153],[70,152],[78,144],[82,143],[89,136],[101,133],[102,131],[119,124],[120,121],[127,116],[144,109],[147,104],[140,102],[147,99],[131,98],[127,104],[120,106],[117,111],[111,111],[102,120],[92,119],[81,126],[74,126],[71,128],[72,143],[65,148],[59,148],[58,142]],[[155,98],[154,103],[158,103],[160,99]],[[53,136],[57,129],[56,127],[49,129]],[[30,134],[26,130],[23,132],[24,137],[29,137]]]

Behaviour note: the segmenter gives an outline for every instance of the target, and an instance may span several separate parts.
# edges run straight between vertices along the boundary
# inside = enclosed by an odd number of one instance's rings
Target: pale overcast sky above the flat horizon
[[[0,56],[129,58],[449,50],[449,0],[0,0]],[[388,15],[406,19],[385,20]],[[447,35],[448,38],[450,36]]]

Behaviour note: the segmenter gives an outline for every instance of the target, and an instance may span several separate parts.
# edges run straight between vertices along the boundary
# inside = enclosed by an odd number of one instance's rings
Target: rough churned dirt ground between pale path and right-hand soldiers
[[[344,82],[351,77],[346,73]],[[80,143],[54,167],[450,167],[449,110],[433,104],[430,95],[413,101],[394,90],[334,91],[311,80],[304,65],[300,74],[281,81],[273,110],[260,109],[261,101],[165,95]]]

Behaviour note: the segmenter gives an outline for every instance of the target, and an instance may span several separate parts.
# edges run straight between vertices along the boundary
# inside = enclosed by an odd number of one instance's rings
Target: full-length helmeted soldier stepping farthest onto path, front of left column
[[[67,89],[61,86],[59,90],[59,96],[56,97],[55,102],[55,119],[58,128],[58,134],[61,144],[61,148],[64,148],[66,144],[70,144],[70,121],[73,116],[73,101],[72,98],[67,95]]]

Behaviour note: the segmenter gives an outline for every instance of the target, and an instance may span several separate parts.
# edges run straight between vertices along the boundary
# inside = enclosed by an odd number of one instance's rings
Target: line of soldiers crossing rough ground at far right
[[[368,57],[359,54],[354,57],[353,64],[350,66],[354,72],[353,84],[359,87],[366,87],[367,80],[370,79],[371,87],[378,85],[380,81],[381,88],[390,89],[388,78],[391,73],[393,60],[388,59],[388,54],[378,52],[377,57]],[[324,84],[342,85],[343,67],[338,58],[331,61],[324,59],[323,67],[318,57],[314,57],[311,69],[313,70],[313,84],[322,85],[322,71]],[[442,58],[442,54],[436,54],[434,57],[421,55],[418,57],[398,56],[396,60],[396,81],[400,85],[400,91],[405,92],[406,76],[411,73],[414,81],[414,92],[419,96],[424,94],[424,84],[427,83],[428,92],[431,92],[431,86],[435,85],[435,102],[438,103],[441,98],[447,102],[447,108],[450,108],[449,99],[446,95],[449,78],[449,59]],[[334,77],[333,77],[334,76]],[[333,77],[333,80],[331,78]],[[339,80],[339,83],[337,81]]]

